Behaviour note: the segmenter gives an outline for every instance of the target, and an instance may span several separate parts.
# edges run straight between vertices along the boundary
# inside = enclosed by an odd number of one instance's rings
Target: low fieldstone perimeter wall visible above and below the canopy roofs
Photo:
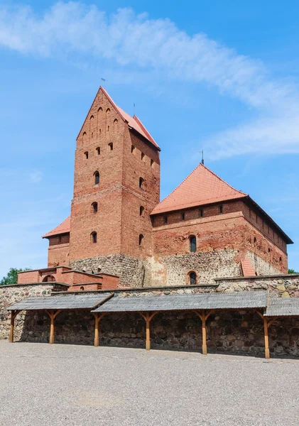
[[[119,297],[147,297],[214,292],[270,290],[272,297],[299,297],[299,276],[236,278],[217,280],[217,285],[182,288],[121,290]],[[3,291],[4,290],[4,291]],[[18,290],[18,289],[17,289]],[[11,288],[0,288],[1,319],[6,315],[4,300],[12,302]],[[26,288],[13,301],[28,295],[50,293],[49,285]],[[9,297],[9,299],[7,298]],[[9,336],[9,318],[1,320],[1,337]],[[50,320],[45,312],[22,312],[16,317],[15,340],[48,342]],[[299,319],[278,318],[268,329],[271,354],[299,356]],[[145,321],[136,313],[107,314],[100,322],[100,345],[145,347]],[[55,343],[89,344],[94,342],[94,317],[88,310],[64,311],[55,319]],[[159,312],[151,321],[151,347],[201,351],[202,327],[193,312]],[[207,320],[208,352],[228,352],[263,356],[263,321],[253,310],[218,311]],[[100,348],[99,348],[100,351]]]

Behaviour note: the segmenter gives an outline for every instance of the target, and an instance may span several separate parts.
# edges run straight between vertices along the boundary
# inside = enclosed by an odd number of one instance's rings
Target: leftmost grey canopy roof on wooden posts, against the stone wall
[[[51,295],[28,297],[9,306],[8,310],[46,310],[46,309],[92,309],[105,302],[113,293],[77,293],[76,295]]]

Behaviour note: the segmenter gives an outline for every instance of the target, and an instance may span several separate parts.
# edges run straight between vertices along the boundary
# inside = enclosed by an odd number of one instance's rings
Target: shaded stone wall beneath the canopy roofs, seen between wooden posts
[[[17,317],[18,318],[18,317]],[[21,342],[49,341],[50,320],[47,314],[28,312],[22,315],[22,332],[15,333]],[[145,321],[136,312],[112,313],[100,322],[102,346],[145,347]],[[94,317],[88,310],[60,312],[55,319],[55,343],[94,343]],[[263,321],[252,311],[223,312],[207,320],[207,346],[210,353],[264,355]],[[269,328],[271,354],[299,356],[299,318],[282,318]],[[152,349],[181,351],[202,350],[202,326],[193,312],[160,312],[151,321]],[[100,349],[99,349],[100,350]]]

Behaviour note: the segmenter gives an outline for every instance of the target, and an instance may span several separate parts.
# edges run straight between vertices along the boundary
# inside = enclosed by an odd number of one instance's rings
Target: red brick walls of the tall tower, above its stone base
[[[107,109],[110,109],[108,115]],[[94,119],[90,121],[92,116]],[[111,142],[113,151],[109,149]],[[134,153],[131,153],[132,144],[136,147]],[[143,160],[141,152],[145,154]],[[94,185],[96,170],[100,175],[99,185]],[[140,177],[145,180],[144,190],[139,188]],[[159,201],[159,191],[157,149],[129,131],[107,97],[99,92],[77,138],[70,262],[117,253],[138,258],[150,256],[149,213]],[[97,213],[92,212],[92,202],[98,203]],[[139,215],[141,205],[145,207],[144,217]],[[97,232],[97,244],[90,241],[92,231]],[[140,234],[144,236],[141,247]]]

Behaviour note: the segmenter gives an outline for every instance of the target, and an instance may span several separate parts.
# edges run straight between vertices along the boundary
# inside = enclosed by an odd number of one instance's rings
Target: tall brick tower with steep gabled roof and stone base
[[[70,266],[146,285],[150,213],[160,199],[160,148],[100,87],[77,137]]]

